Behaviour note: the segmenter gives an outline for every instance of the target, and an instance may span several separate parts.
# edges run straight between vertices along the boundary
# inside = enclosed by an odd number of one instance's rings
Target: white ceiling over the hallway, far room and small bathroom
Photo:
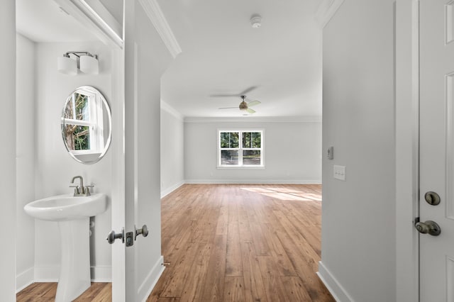
[[[321,118],[320,0],[157,1],[182,48],[162,77],[161,97],[183,116],[243,117],[237,106],[246,91],[248,101],[261,102],[248,116]],[[18,32],[36,42],[96,39],[53,0],[16,3]],[[101,3],[121,18],[121,6]],[[255,13],[260,28],[250,24]]]

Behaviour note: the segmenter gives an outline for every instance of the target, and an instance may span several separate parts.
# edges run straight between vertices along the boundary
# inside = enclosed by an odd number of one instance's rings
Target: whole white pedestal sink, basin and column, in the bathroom
[[[24,206],[28,215],[56,221],[60,228],[62,259],[56,302],[72,301],[90,287],[89,219],[106,208],[105,194],[52,196]]]

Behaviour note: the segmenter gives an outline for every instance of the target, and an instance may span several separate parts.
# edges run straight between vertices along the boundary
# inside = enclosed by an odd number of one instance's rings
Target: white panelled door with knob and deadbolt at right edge
[[[420,301],[454,301],[454,1],[420,1]],[[440,196],[438,205],[435,192]],[[436,202],[435,202],[436,203]],[[421,226],[423,228],[424,225]]]

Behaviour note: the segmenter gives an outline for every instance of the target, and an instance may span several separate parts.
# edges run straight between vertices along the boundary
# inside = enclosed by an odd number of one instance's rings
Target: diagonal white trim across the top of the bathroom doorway
[[[106,45],[123,48],[123,38],[87,2],[84,0],[54,1]]]

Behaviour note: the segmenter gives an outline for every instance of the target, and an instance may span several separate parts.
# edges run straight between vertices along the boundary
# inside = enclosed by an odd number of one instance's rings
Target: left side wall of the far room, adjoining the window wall
[[[161,101],[161,198],[184,183],[184,123]]]

